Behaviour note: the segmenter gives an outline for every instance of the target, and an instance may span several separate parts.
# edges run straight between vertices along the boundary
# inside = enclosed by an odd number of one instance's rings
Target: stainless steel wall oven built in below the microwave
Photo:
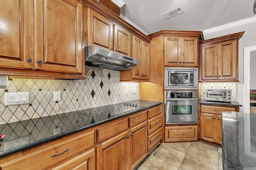
[[[197,91],[165,92],[166,124],[197,123]]]

